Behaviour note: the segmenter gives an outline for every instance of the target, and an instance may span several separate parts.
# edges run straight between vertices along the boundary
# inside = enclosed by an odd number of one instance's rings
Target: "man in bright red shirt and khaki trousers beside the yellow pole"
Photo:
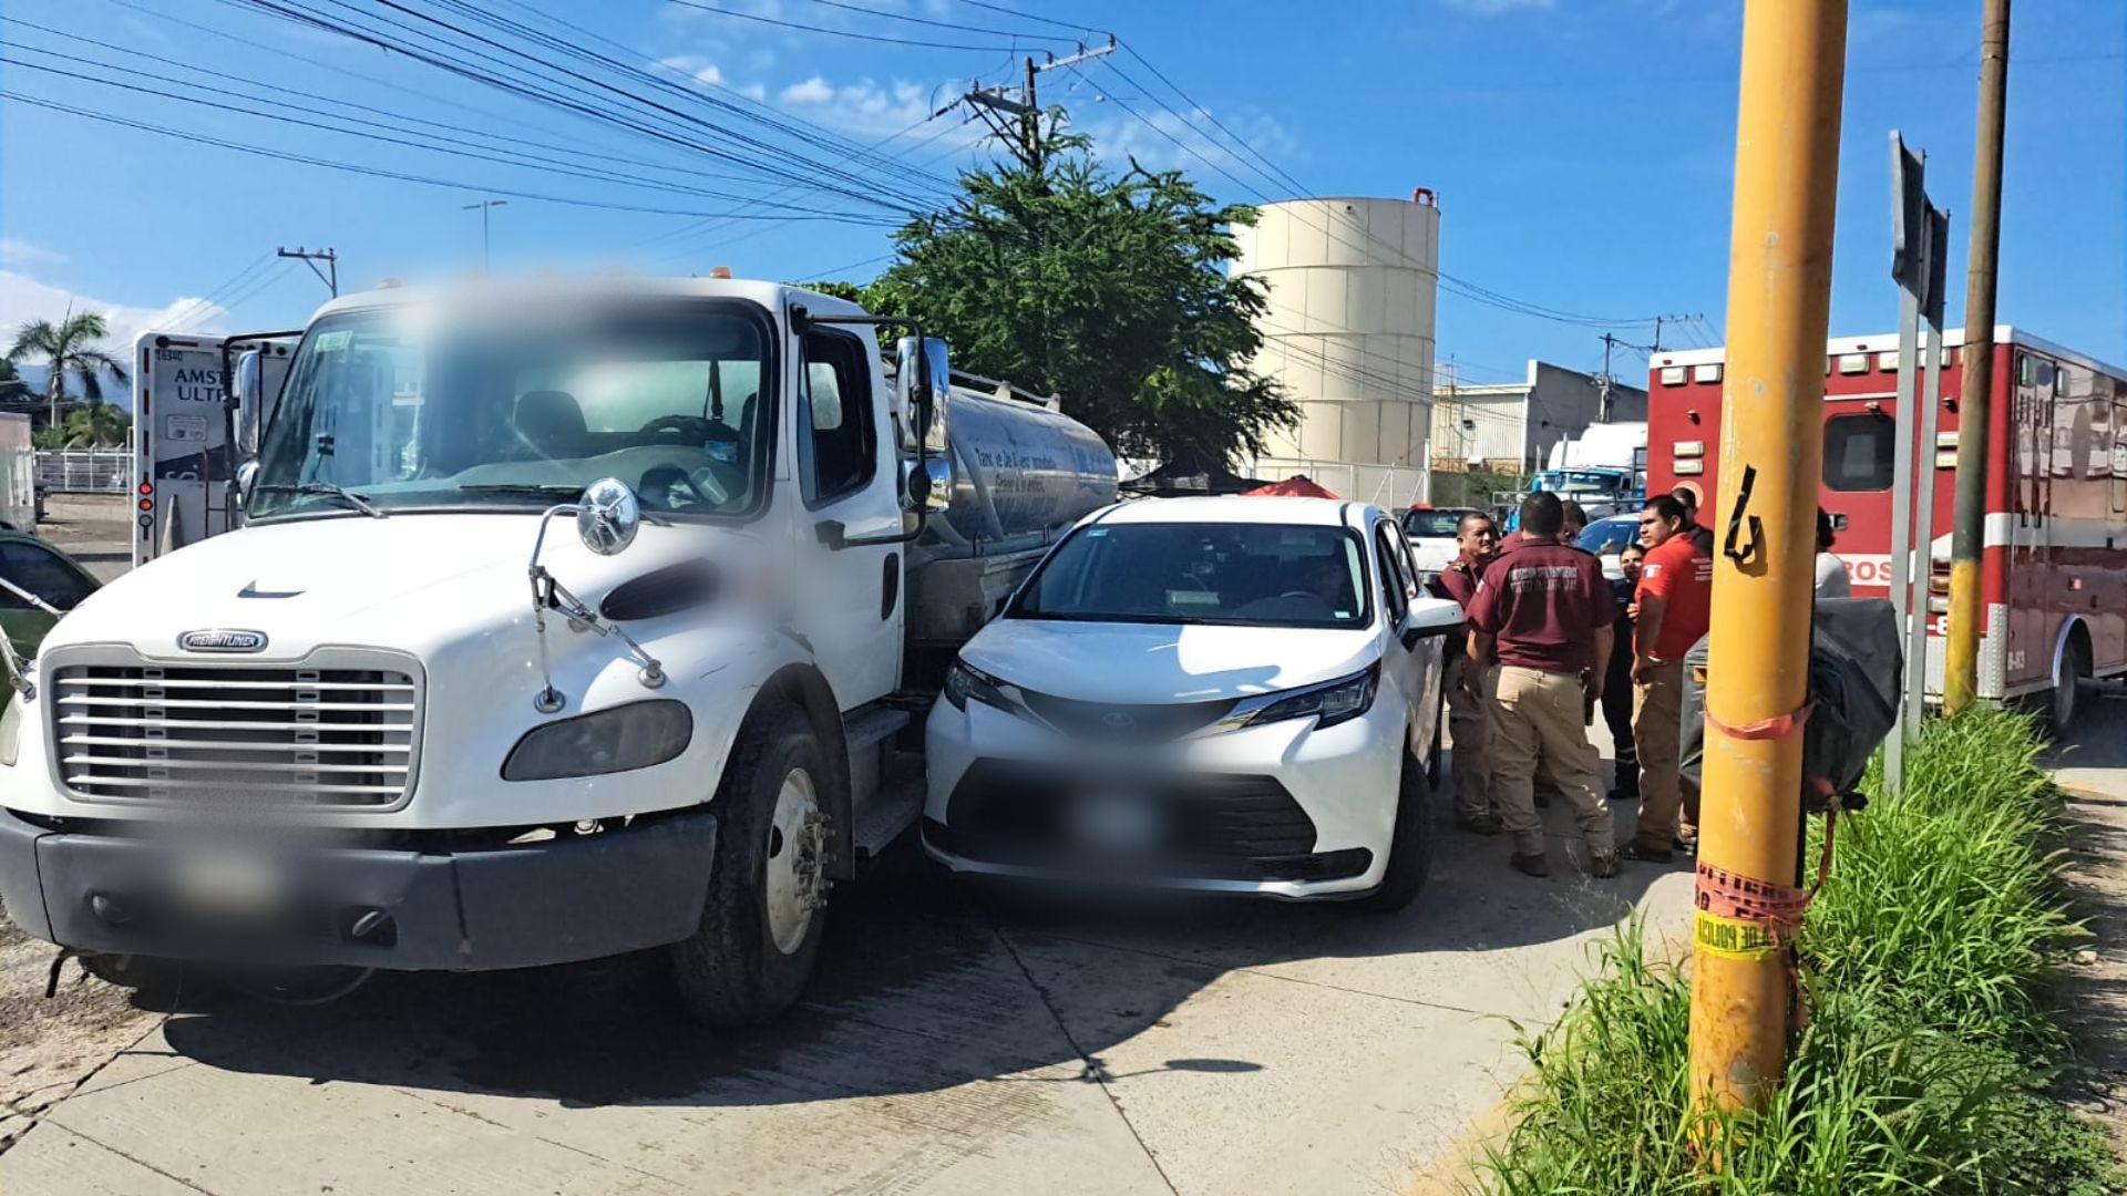
[[[1631,741],[1640,751],[1640,828],[1621,851],[1627,860],[1668,864],[1672,843],[1691,845],[1697,792],[1682,790],[1678,721],[1685,653],[1706,634],[1714,562],[1691,534],[1685,504],[1657,494],[1640,511],[1640,607],[1631,634]],[[1682,811],[1682,824],[1678,824]]]

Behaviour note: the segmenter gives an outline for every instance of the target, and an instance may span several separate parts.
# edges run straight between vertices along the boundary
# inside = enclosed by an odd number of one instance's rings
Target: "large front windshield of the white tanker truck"
[[[744,515],[768,475],[766,317],[706,302],[319,319],[266,430],[249,515],[542,509],[617,477],[647,511]]]

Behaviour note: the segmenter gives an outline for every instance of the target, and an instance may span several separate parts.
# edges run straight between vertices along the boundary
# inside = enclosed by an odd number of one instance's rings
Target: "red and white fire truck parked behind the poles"
[[[1927,692],[1942,692],[1950,585],[1950,506],[1963,330],[1944,334],[1933,445],[1914,453],[1931,494]],[[2065,728],[2076,685],[2127,672],[2127,370],[1995,330],[1987,541],[1980,564],[1980,696],[2046,696]],[[1699,519],[1725,536],[1719,502],[1723,351],[1663,351],[1648,366],[1648,494],[1699,492]],[[1831,340],[1825,353],[1825,472],[1819,502],[1857,596],[1889,594],[1897,336]],[[1912,421],[1919,436],[1919,421]],[[1919,551],[1916,551],[1919,555]]]

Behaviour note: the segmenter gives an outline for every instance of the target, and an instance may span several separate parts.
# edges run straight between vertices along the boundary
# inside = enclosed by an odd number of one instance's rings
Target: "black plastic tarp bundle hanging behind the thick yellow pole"
[[[1685,653],[1682,773],[1693,785],[1706,755],[1706,685],[1712,668],[1708,641]],[[1812,777],[1836,794],[1850,794],[1870,755],[1891,734],[1904,651],[1897,611],[1885,598],[1823,598],[1810,619],[1810,685],[1814,702],[1802,732],[1804,804],[1814,804]]]

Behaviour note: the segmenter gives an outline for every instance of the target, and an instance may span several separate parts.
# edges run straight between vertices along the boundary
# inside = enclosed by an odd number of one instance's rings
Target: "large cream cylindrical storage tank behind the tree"
[[[1423,468],[1440,264],[1431,192],[1257,213],[1255,228],[1234,230],[1234,272],[1259,277],[1270,298],[1255,370],[1300,402],[1300,423],[1274,434],[1268,455]]]

